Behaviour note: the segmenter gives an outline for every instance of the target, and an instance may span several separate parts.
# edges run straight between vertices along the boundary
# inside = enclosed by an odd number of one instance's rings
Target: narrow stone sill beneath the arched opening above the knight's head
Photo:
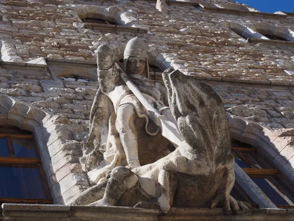
[[[95,23],[84,23],[83,28],[91,28],[94,30],[111,30],[111,31],[125,31],[146,34],[148,30],[146,28],[134,28],[127,26],[116,26],[116,25],[104,25]]]

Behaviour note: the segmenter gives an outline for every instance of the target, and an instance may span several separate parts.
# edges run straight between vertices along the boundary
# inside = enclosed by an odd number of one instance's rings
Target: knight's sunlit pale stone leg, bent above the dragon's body
[[[137,129],[134,124],[135,117],[136,113],[132,105],[125,104],[118,108],[116,128],[120,134],[130,169],[141,166],[138,157]]]

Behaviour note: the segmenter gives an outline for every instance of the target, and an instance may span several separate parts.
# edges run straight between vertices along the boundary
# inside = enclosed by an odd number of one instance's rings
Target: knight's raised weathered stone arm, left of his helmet
[[[97,49],[97,74],[101,91],[108,95],[120,82],[118,69],[113,62],[113,52],[105,44]]]

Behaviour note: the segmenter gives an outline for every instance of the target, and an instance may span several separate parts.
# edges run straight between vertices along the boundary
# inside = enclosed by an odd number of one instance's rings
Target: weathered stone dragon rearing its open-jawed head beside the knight
[[[98,55],[104,59],[103,63],[98,61],[99,70],[111,69],[111,72],[105,74],[116,76],[115,79],[120,82],[118,85],[124,85],[119,69],[112,64],[110,49],[101,46],[98,50],[100,53],[105,52],[105,56]],[[140,60],[136,62],[139,66]],[[101,76],[103,73],[98,74]],[[113,76],[109,78],[114,79]],[[219,206],[226,213],[246,211],[248,204],[230,196],[235,180],[234,158],[221,98],[207,84],[185,76],[178,70],[166,70],[163,80],[168,91],[170,110],[184,140],[172,153],[154,163],[133,169],[114,167],[110,176],[79,194],[72,204],[159,207],[164,213],[171,206]],[[99,90],[105,93],[109,85],[99,83]],[[118,115],[118,110],[116,112]],[[114,119],[115,113],[109,118],[108,137],[113,137],[109,141],[112,144],[118,142],[117,137],[120,135],[115,130]],[[123,149],[121,147],[122,152]]]

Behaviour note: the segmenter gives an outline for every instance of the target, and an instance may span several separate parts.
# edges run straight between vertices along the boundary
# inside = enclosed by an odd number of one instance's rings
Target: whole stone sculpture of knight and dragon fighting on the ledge
[[[97,54],[100,87],[91,110],[86,145],[94,144],[94,149],[84,149],[82,161],[97,184],[77,195],[72,204],[160,207],[164,213],[171,206],[220,206],[225,213],[235,214],[248,210],[249,205],[230,195],[235,180],[234,157],[217,93],[179,70],[163,73],[165,87],[149,80],[147,47],[138,38],[126,46],[126,73],[113,62],[107,45],[99,46]],[[170,108],[162,102],[166,91]],[[167,124],[159,124],[154,115]],[[177,125],[182,139],[172,153],[167,154],[168,142],[159,136],[149,117],[161,126],[163,135],[162,125],[168,125],[171,133],[166,137],[171,141],[177,134],[169,123]],[[147,148],[149,159],[144,166],[140,166],[141,145]],[[109,176],[106,171],[111,171]]]

